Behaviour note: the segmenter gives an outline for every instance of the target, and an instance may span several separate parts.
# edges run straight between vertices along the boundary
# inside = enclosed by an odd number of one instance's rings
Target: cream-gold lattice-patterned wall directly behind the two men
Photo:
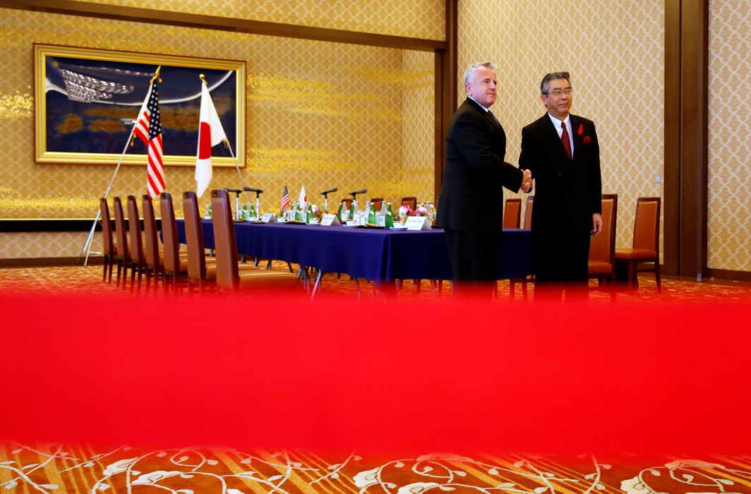
[[[664,2],[465,0],[458,24],[460,73],[473,62],[499,65],[493,113],[508,137],[506,161],[517,164],[521,128],[544,115],[544,74],[571,73],[572,113],[597,126],[602,190],[618,194],[617,245],[630,247],[636,199],[662,196]]]

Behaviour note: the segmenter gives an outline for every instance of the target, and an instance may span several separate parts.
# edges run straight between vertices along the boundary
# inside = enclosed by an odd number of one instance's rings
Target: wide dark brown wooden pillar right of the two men
[[[707,271],[709,0],[665,0],[665,273]]]

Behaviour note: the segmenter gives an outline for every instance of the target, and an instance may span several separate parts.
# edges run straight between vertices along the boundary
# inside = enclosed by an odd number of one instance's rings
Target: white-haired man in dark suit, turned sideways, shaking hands
[[[464,74],[467,98],[446,137],[446,166],[438,224],[445,229],[454,286],[491,287],[496,280],[503,219],[502,186],[529,190],[529,172],[503,161],[506,134],[490,108],[496,102],[496,66],[472,65]]]

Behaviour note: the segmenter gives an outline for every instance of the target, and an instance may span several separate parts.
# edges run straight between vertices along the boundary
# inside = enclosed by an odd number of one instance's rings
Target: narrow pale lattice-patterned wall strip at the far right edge
[[[707,266],[751,271],[751,5],[710,0]]]

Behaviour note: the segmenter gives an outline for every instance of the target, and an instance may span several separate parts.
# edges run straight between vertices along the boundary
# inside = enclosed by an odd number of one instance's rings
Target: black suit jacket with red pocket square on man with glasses
[[[532,171],[535,206],[532,233],[589,232],[592,215],[602,212],[600,148],[595,124],[571,115],[573,159],[545,113],[521,131],[519,167]]]

